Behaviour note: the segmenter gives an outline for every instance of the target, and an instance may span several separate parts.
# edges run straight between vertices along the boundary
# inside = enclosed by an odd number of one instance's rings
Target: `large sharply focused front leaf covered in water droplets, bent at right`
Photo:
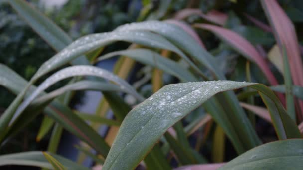
[[[264,85],[233,81],[172,84],[164,86],[126,116],[103,170],[135,168],[161,135],[190,111],[218,92],[246,86],[263,95],[281,139],[301,137],[275,94]],[[122,159],[126,157],[128,159]]]

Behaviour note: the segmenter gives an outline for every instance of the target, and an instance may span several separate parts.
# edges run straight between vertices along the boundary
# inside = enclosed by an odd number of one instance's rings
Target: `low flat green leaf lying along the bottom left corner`
[[[60,161],[60,163],[72,170],[89,170],[82,165],[76,164],[66,158],[61,156],[48,153],[50,156]],[[4,165],[25,165],[25,166],[35,166],[52,169],[51,164],[48,163],[47,159],[44,157],[41,151],[30,151],[30,152],[21,152],[17,154],[7,154],[0,156],[0,166]]]

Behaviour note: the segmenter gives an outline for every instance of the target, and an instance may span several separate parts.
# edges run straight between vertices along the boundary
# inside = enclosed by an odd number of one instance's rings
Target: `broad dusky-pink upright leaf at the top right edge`
[[[295,27],[276,0],[261,0],[282,53],[286,49],[294,85],[303,86],[303,63]],[[298,101],[303,115],[303,101]]]

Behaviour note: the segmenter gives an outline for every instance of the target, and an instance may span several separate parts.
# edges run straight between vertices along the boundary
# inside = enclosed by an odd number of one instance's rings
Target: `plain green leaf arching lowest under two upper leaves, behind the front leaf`
[[[141,63],[156,67],[163,70],[171,75],[176,76],[181,81],[198,81],[187,69],[180,69],[183,66],[168,59],[160,56],[158,53],[152,52],[146,49],[130,49],[108,53],[104,56],[101,56],[99,60],[113,57],[115,55],[124,55],[128,56],[136,61]],[[244,147],[240,143],[239,136],[236,134],[233,124],[235,124],[234,119],[229,119],[227,113],[224,112],[222,106],[214,99],[210,99],[203,104],[206,110],[214,117],[214,119],[223,127],[227,136],[231,139],[234,147],[238,153],[243,153]]]

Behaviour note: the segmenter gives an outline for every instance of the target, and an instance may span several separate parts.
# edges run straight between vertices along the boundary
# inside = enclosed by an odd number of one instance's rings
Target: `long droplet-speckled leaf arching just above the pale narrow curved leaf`
[[[178,48],[167,41],[160,35],[147,31],[113,31],[108,33],[99,33],[87,35],[71,43],[58,54],[41,65],[37,73],[33,76],[32,80],[36,80],[42,75],[66,64],[72,59],[85,54],[89,51],[95,50],[116,41],[126,41],[136,43],[152,48],[160,48],[174,51],[185,59],[187,58]],[[187,59],[190,63],[190,60]],[[195,65],[192,64],[194,67]],[[196,68],[198,71],[199,69]]]

